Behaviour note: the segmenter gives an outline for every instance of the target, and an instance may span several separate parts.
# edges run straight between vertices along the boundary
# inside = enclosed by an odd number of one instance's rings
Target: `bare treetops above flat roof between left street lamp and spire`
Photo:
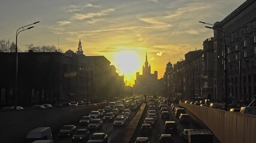
[[[29,50],[32,50],[34,52],[62,52],[61,48],[56,48],[54,45],[43,45],[43,46],[34,46],[33,43],[27,44],[26,48]]]

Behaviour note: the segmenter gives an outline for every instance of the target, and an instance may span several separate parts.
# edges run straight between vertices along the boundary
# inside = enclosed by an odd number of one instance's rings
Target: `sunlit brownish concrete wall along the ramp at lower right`
[[[183,102],[179,102],[179,105],[197,116],[221,142],[256,142],[256,115],[234,113]]]

